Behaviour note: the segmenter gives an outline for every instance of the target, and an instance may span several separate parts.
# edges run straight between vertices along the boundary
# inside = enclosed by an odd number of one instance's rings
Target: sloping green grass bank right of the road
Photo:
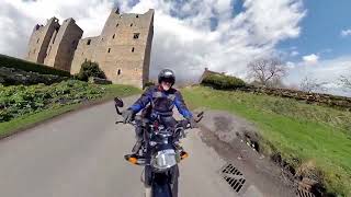
[[[351,196],[350,112],[203,86],[183,89],[183,95],[192,107],[228,111],[253,121],[268,153],[280,151],[295,167],[315,163],[328,192]]]

